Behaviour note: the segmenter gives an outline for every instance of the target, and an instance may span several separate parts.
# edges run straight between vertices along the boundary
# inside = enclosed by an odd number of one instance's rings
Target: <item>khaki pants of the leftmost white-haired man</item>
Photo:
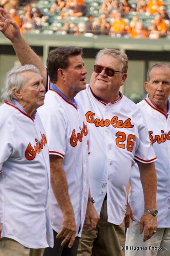
[[[30,249],[17,241],[3,237],[0,239],[0,256],[42,256],[43,249]]]

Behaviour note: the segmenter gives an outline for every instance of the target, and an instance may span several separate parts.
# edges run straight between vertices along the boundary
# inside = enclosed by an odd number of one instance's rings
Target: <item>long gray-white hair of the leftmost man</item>
[[[7,72],[1,96],[2,102],[8,101],[10,103],[13,103],[14,100],[18,100],[17,96],[13,91],[24,90],[25,79],[22,73],[26,71],[32,71],[40,74],[39,69],[33,65],[14,67]]]

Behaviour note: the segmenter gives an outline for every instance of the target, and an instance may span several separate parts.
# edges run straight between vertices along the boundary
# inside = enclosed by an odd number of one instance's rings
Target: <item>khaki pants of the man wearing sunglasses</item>
[[[96,229],[87,232],[83,228],[77,256],[124,256],[121,250],[121,246],[125,245],[124,222],[114,225],[107,218],[107,204],[104,200]]]

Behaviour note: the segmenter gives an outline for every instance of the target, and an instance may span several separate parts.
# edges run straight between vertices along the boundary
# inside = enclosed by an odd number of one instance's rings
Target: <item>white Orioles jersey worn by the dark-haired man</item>
[[[46,130],[49,154],[63,158],[63,169],[76,221],[76,236],[81,236],[89,193],[89,134],[85,115],[80,104],[77,108],[56,90],[46,93],[45,104],[38,112]],[[51,189],[51,222],[57,233],[61,229],[62,218]]]

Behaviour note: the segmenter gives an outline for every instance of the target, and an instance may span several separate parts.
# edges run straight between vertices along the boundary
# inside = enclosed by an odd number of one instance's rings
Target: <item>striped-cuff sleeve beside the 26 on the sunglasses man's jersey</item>
[[[135,151],[134,159],[142,163],[152,163],[156,161],[157,157],[155,156],[154,149],[149,139],[145,118],[140,109],[137,111],[136,118],[138,123],[139,143]]]

